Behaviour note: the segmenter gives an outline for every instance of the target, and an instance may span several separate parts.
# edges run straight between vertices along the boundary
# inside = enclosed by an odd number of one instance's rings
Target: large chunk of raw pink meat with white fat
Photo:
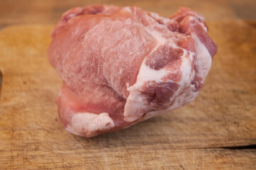
[[[65,12],[48,49],[64,82],[57,97],[61,122],[92,137],[193,101],[217,51],[207,32],[204,17],[189,8],[170,18],[138,7]]]

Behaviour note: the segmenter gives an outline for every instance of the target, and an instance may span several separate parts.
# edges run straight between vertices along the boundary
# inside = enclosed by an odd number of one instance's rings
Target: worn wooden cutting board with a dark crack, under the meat
[[[1,30],[0,169],[256,169],[256,24],[208,26],[218,54],[194,102],[89,139],[57,116],[52,26]]]

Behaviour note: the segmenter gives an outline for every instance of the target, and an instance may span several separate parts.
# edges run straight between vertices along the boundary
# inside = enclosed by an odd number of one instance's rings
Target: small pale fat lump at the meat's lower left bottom
[[[113,120],[108,113],[77,113],[72,116],[71,123],[66,130],[74,135],[93,136],[97,131],[109,130],[114,127]]]

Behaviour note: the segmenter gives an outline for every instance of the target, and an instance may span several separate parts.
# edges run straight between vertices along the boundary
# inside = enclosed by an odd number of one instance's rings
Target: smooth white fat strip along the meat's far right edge
[[[196,63],[195,69],[199,74],[199,77],[206,79],[206,76],[211,68],[212,58],[204,44],[196,37],[196,35],[191,34],[192,38],[196,42]]]

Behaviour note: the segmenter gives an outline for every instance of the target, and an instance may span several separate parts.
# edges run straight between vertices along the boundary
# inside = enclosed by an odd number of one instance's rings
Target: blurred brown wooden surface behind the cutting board
[[[89,4],[140,6],[161,16],[170,16],[179,6],[187,6],[203,14],[207,21],[256,21],[255,0],[0,0],[0,28],[20,23],[57,23],[69,8]]]

